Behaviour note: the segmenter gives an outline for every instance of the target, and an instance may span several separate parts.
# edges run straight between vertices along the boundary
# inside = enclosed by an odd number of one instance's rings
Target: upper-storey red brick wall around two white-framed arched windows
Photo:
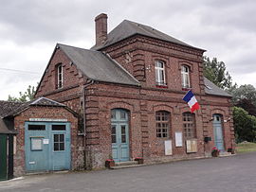
[[[191,85],[194,93],[204,93],[201,86],[203,51],[180,46],[177,44],[163,43],[146,37],[136,36],[102,49],[119,61],[143,87],[155,86],[155,61],[164,61],[166,64],[167,88],[181,91],[181,65],[186,64],[191,69]]]

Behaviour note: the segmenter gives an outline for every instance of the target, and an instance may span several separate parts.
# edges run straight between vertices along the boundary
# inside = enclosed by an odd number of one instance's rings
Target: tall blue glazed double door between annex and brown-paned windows
[[[111,111],[112,156],[115,162],[130,160],[128,113],[116,109]]]

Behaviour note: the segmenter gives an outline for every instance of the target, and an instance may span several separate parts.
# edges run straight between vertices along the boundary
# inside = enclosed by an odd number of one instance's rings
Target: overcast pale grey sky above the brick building
[[[90,48],[94,18],[128,19],[206,49],[239,85],[256,86],[255,0],[0,0],[0,99],[40,81],[55,44]],[[8,70],[13,69],[13,70]]]

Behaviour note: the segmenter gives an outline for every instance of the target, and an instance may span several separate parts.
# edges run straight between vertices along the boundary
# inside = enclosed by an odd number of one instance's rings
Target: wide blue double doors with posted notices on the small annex
[[[27,172],[70,169],[70,123],[26,122]]]

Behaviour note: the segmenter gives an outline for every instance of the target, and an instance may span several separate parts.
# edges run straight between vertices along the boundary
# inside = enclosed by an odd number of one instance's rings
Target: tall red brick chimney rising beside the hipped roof
[[[107,40],[107,15],[101,13],[95,18],[96,45],[104,44]]]

